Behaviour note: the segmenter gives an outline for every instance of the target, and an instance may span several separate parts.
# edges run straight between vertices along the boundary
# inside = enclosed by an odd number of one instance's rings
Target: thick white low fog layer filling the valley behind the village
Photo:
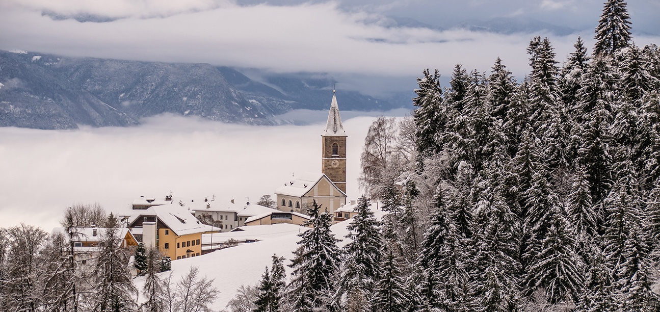
[[[350,199],[358,197],[360,153],[373,119],[344,123]],[[321,171],[324,127],[228,125],[172,115],[130,128],[0,127],[0,228],[25,222],[49,231],[74,203],[98,202],[117,212],[140,196],[170,191],[183,199],[255,202],[294,172]]]

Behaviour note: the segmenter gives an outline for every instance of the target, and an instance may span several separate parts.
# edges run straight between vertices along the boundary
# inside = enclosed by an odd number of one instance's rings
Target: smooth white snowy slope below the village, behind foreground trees
[[[382,216],[382,214],[382,211],[376,212],[376,216]],[[350,221],[349,219],[339,222],[331,227],[335,237],[342,239],[337,244],[340,247],[348,243],[345,236],[348,234],[347,226]],[[291,263],[292,252],[296,249],[299,239],[298,234],[284,235],[255,243],[220,249],[199,257],[172,261],[172,271],[162,273],[162,278],[166,278],[168,274],[173,274],[172,282],[175,282],[185,275],[192,266],[197,266],[199,276],[215,278],[214,286],[218,288],[220,294],[213,303],[212,308],[213,311],[222,311],[228,301],[236,296],[236,290],[241,285],[255,286],[261,280],[264,269],[267,266],[270,268],[272,264],[271,256],[273,254],[286,258],[284,264],[286,274],[289,276],[291,268],[288,265]],[[142,290],[143,283],[144,278],[135,278],[135,286],[139,290]]]

